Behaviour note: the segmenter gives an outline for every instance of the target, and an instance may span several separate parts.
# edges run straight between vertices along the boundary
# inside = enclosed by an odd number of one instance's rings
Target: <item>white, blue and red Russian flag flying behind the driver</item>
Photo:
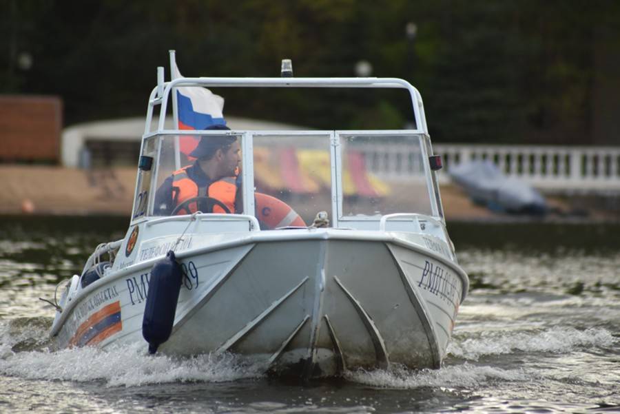
[[[173,79],[181,76],[173,67]],[[206,87],[176,87],[176,106],[179,130],[206,130],[209,125],[226,125],[224,119],[224,98]],[[189,154],[198,145],[198,139],[191,136],[180,138],[180,151]]]

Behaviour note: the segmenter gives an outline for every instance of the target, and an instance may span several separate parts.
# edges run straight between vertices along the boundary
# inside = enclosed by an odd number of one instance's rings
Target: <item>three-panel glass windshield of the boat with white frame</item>
[[[223,169],[205,167],[199,161],[205,155],[200,151],[214,148],[200,147],[200,138],[207,135],[226,137],[223,157],[218,161],[224,164]],[[265,215],[284,214],[289,209],[302,219],[287,221],[282,217],[278,227],[309,225],[319,211],[327,211],[333,225],[342,222],[342,227],[356,227],[353,223],[360,220],[378,221],[386,214],[440,216],[437,183],[428,168],[431,149],[427,141],[423,134],[401,131],[211,131],[151,136],[143,145],[143,158],[154,159],[153,174],[143,168],[138,174],[134,219],[198,210],[227,212],[214,205],[192,203],[176,209],[196,196],[217,198],[231,212],[254,215],[259,222]],[[197,146],[200,151],[196,151]],[[251,149],[252,154],[243,153],[241,148],[246,152]],[[235,150],[236,155],[232,154]],[[218,174],[227,172],[220,177],[226,184],[212,187],[205,168]],[[251,203],[244,203],[244,198]],[[273,199],[277,205],[271,203]],[[280,223],[276,218],[271,220]]]

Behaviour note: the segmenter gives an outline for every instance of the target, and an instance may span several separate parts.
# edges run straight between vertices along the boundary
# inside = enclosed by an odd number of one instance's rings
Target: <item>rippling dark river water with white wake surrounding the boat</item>
[[[231,355],[53,351],[51,298],[118,217],[0,218],[0,412],[620,412],[620,225],[449,223],[471,277],[439,370],[298,384]]]

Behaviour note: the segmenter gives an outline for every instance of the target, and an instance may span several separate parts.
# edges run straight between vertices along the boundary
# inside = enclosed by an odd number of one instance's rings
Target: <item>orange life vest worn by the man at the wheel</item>
[[[185,171],[188,167],[181,168],[172,173],[172,187],[178,189],[176,195],[176,205],[180,205],[185,200],[194,197],[211,197],[220,200],[228,207],[231,213],[235,212],[235,198],[237,194],[237,185],[235,177],[220,178],[214,181],[209,187],[198,187],[196,182],[187,176]],[[175,206],[176,207],[176,206]],[[190,203],[189,211],[195,213],[197,210],[196,203]],[[218,205],[213,207],[214,213],[226,213],[224,209]],[[180,210],[176,214],[185,214],[185,210]]]

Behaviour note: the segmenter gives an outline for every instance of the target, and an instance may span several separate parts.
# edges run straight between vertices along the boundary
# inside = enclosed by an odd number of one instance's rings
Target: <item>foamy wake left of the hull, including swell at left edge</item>
[[[47,318],[0,321],[1,375],[32,380],[98,381],[106,386],[229,382],[262,375],[258,367],[229,353],[172,358],[149,355],[147,347],[139,344],[54,351],[47,339],[50,321],[41,319]]]

